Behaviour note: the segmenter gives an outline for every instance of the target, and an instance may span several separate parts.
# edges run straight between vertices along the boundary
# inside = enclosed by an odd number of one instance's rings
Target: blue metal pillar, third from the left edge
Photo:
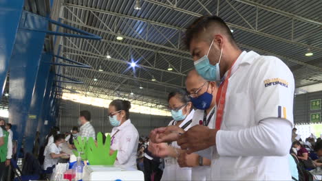
[[[41,115],[43,98],[45,96],[45,88],[50,72],[50,63],[48,63],[50,62],[50,60],[52,60],[52,56],[50,54],[42,54],[36,85],[34,87],[34,94],[32,95],[32,101],[29,109],[28,121],[25,126],[25,152],[32,152],[34,146],[37,125],[39,121],[39,116]]]

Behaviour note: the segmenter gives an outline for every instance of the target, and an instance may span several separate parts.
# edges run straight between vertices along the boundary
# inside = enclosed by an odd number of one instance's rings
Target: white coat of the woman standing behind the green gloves
[[[114,165],[138,169],[136,167],[136,154],[139,134],[131,120],[127,119],[122,125],[114,127],[111,131],[111,136],[111,149],[118,150]]]

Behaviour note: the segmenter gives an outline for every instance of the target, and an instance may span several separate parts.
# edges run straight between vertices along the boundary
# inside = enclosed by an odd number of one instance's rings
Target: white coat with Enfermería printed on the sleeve
[[[229,78],[212,180],[291,180],[294,77],[286,64],[242,52]]]

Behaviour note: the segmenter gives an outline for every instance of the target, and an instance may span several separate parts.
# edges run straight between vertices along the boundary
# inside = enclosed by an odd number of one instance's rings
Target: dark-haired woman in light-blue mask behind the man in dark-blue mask
[[[195,111],[192,109],[192,104],[186,90],[178,89],[169,93],[168,103],[173,117],[169,126],[176,126],[182,130],[188,130],[191,127],[193,113]],[[181,168],[178,164],[180,154],[184,153],[176,141],[169,144],[150,143],[150,145],[150,150],[155,156],[164,158],[165,167],[161,180],[191,180],[191,167]]]

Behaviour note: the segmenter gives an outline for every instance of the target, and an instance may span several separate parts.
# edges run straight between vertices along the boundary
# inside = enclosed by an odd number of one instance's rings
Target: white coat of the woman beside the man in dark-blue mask
[[[190,121],[193,118],[195,110],[191,110],[189,115],[182,121],[182,123],[179,125],[182,127],[183,125],[186,124],[186,122]],[[169,125],[175,125],[174,120],[170,121]],[[185,131],[189,130],[191,127],[191,124],[188,125],[186,128],[184,128]],[[171,143],[172,147],[177,147],[180,148],[179,145],[177,144],[177,141],[173,141]],[[189,167],[184,167],[180,168],[178,165],[178,161],[176,158],[172,157],[166,157],[164,158],[164,163],[165,167],[163,170],[162,178],[161,180],[167,181],[167,180],[191,180],[191,168]]]

